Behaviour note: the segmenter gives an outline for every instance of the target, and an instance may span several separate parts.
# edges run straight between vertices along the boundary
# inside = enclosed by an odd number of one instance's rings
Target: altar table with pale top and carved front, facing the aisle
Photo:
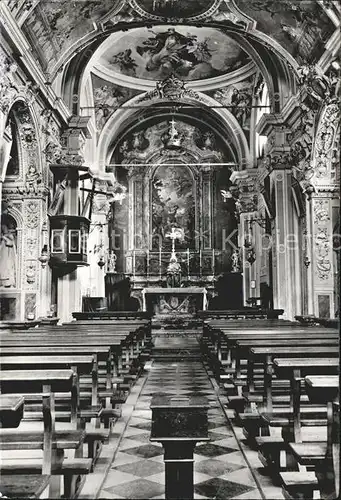
[[[143,310],[151,314],[194,314],[207,309],[207,290],[201,287],[142,290]]]

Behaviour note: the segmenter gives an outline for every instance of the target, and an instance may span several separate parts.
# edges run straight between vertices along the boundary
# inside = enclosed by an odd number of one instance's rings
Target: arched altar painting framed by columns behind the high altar
[[[183,229],[177,249],[194,248],[194,182],[188,167],[161,165],[152,181],[152,248],[171,249],[167,234]]]

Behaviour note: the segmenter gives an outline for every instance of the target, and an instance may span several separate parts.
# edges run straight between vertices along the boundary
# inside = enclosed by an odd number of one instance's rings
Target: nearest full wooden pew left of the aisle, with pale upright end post
[[[78,450],[82,449],[84,432],[78,430],[78,377],[72,370],[7,370],[0,372],[0,388],[2,393],[40,393],[42,397],[42,414],[44,422],[42,431],[32,429],[24,430],[16,428],[2,429],[0,431],[1,450],[43,450],[42,461],[31,469],[34,474],[41,470],[43,475],[50,477],[50,496],[59,496],[59,475],[64,475],[64,489],[66,496],[74,494],[72,485],[75,483],[74,474],[70,471],[71,460],[68,462],[67,470],[63,468],[64,450],[73,449],[77,456]],[[74,424],[72,430],[55,430],[55,391],[69,392],[71,400],[71,422]],[[11,467],[13,466],[13,468]],[[71,467],[72,469],[72,467]],[[91,469],[91,460],[77,460],[77,472],[81,469],[82,475],[88,474]],[[15,461],[4,463],[2,460],[1,474],[10,475],[11,472],[18,474],[20,470]],[[22,469],[23,474],[27,469]]]

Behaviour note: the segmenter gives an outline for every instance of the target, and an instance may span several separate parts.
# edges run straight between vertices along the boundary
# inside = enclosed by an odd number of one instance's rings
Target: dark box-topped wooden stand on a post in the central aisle
[[[164,447],[166,499],[192,499],[193,453],[198,441],[209,441],[209,401],[198,396],[153,397],[150,441]]]

